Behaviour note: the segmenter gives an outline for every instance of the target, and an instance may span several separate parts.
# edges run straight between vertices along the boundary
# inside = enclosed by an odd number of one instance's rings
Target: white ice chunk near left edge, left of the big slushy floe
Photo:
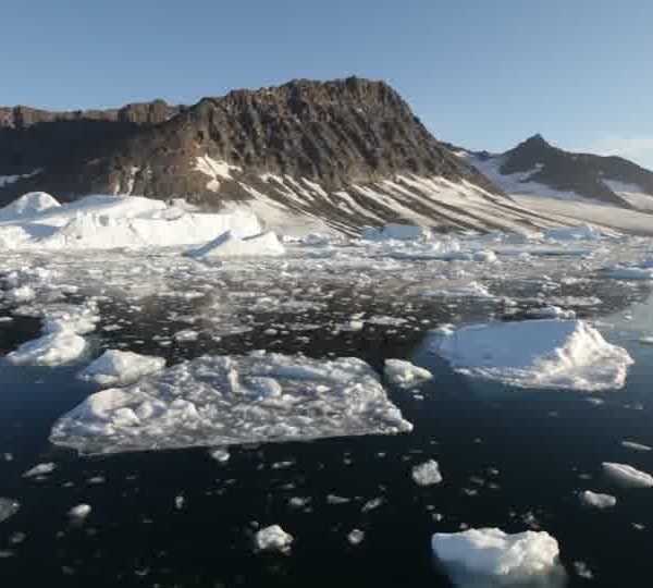
[[[16,366],[59,366],[79,359],[86,350],[87,343],[82,336],[60,330],[23,343],[7,360]]]

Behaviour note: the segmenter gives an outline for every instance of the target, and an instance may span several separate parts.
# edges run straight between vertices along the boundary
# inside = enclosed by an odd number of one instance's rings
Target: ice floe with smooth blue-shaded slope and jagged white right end
[[[460,373],[521,388],[618,389],[633,363],[581,320],[464,327],[436,335],[431,351]]]

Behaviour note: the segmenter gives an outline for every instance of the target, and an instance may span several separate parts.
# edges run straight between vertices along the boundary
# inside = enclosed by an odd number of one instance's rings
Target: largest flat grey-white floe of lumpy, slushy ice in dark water
[[[97,392],[51,441],[81,453],[410,431],[365,362],[252,353],[205,356]]]

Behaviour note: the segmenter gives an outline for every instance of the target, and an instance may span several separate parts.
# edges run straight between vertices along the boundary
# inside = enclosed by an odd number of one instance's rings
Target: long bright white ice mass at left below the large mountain
[[[139,196],[87,196],[60,205],[36,193],[0,210],[0,245],[7,249],[190,246],[226,231],[247,237],[261,226],[248,210],[200,213]]]

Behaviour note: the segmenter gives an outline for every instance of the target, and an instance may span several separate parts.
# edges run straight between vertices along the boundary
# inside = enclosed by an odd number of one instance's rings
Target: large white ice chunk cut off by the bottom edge
[[[433,554],[456,586],[562,586],[558,543],[546,531],[508,535],[497,528],[436,532]]]

